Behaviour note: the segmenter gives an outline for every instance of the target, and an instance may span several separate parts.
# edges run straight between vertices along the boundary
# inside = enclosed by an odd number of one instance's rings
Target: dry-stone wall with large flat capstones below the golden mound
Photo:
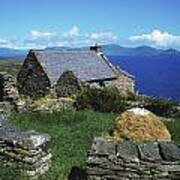
[[[87,174],[88,180],[180,179],[180,146],[95,138]]]

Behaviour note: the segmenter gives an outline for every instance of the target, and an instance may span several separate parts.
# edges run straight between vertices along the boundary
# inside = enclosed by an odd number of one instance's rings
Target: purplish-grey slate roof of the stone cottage
[[[64,71],[71,70],[84,82],[117,78],[112,65],[95,51],[33,51],[47,73],[56,83]]]

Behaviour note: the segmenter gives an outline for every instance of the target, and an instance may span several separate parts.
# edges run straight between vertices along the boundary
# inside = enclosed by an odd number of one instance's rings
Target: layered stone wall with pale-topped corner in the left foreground
[[[47,134],[21,131],[0,114],[0,160],[5,165],[20,167],[29,176],[43,174],[51,159],[49,141]]]

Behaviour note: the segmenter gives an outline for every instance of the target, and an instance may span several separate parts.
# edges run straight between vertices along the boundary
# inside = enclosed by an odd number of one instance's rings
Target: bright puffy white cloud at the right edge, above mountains
[[[135,43],[148,44],[164,48],[180,47],[180,35],[173,35],[160,30],[154,30],[149,34],[131,36],[129,40]]]

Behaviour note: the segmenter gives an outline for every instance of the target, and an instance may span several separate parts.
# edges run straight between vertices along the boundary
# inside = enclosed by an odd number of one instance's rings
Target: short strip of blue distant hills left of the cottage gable
[[[0,58],[23,58],[27,54],[27,50],[16,50],[10,48],[0,48]]]

